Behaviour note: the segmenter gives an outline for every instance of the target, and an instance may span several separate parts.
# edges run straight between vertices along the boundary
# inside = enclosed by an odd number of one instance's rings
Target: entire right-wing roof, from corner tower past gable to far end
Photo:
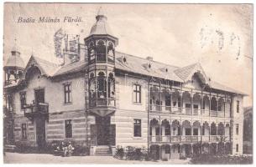
[[[123,62],[123,58],[126,58],[126,62]],[[150,68],[148,68],[149,63],[151,65]],[[206,83],[208,83],[212,89],[219,89],[230,93],[246,95],[243,92],[229,88],[221,83],[208,81],[209,78],[206,77],[206,73],[204,72],[203,68],[201,68],[200,63],[193,63],[183,68],[179,68],[170,64],[149,61],[146,58],[139,58],[130,54],[116,52],[116,68],[131,73],[140,73],[157,78],[170,79],[181,83],[184,83],[185,80],[191,76],[191,74],[196,73],[197,70],[200,69],[202,75],[206,79]],[[168,71],[165,71],[166,68]]]

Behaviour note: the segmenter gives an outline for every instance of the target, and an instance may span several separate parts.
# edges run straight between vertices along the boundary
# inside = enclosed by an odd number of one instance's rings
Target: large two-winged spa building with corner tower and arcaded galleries
[[[243,93],[208,78],[200,63],[120,53],[101,9],[96,20],[60,65],[36,56],[24,65],[13,48],[4,67],[7,142],[71,140],[91,154],[144,146],[165,159],[243,154]]]

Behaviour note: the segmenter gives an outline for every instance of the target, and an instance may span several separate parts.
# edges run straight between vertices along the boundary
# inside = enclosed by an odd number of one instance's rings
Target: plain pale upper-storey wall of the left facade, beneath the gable
[[[26,102],[32,104],[34,100],[34,89],[44,89],[44,101],[49,104],[49,112],[60,112],[68,110],[85,109],[85,93],[84,93],[84,78],[72,78],[65,81],[53,82],[50,78],[40,76],[39,73],[34,73],[30,76],[26,88],[18,91],[15,94],[15,112],[16,114],[24,114],[21,111],[19,92],[26,91]],[[71,82],[71,104],[64,104],[64,87],[63,83]]]

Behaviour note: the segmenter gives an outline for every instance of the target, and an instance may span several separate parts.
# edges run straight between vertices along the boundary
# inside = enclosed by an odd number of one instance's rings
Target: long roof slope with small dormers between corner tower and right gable
[[[125,63],[123,62],[123,58],[126,58],[127,60]],[[150,68],[149,63],[151,66]],[[174,73],[175,69],[178,67],[165,63],[149,61],[148,59],[135,57],[126,53],[116,52],[116,68],[132,73],[140,73],[148,76],[182,82],[182,80]]]

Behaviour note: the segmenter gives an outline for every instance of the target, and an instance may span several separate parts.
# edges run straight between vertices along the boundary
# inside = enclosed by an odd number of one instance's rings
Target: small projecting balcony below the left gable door
[[[46,116],[48,118],[49,104],[25,104],[24,105],[24,116],[29,119],[34,119],[37,116]]]

